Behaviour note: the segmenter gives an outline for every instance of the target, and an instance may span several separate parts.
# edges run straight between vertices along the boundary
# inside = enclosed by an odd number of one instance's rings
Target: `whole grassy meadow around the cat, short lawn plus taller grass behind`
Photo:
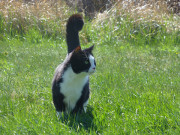
[[[0,14],[0,134],[180,134],[179,16],[116,4],[85,18],[81,46],[95,45],[97,64],[87,113],[58,119],[51,81],[75,11],[11,2],[17,9],[10,4]]]

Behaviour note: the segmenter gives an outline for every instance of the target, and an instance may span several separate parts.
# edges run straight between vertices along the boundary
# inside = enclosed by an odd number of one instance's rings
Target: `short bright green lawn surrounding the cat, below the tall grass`
[[[88,112],[58,120],[51,80],[65,41],[0,44],[1,134],[180,133],[178,46],[96,45]]]

